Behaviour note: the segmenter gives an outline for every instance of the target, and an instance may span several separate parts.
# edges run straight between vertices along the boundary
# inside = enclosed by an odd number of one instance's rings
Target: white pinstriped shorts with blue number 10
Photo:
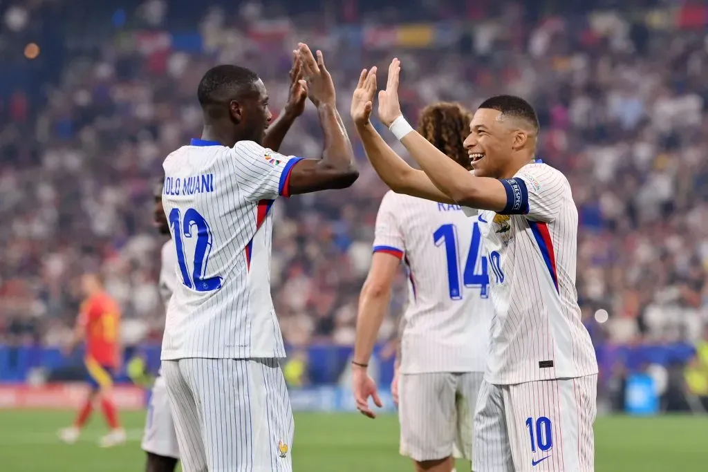
[[[482,382],[474,472],[594,472],[598,376]]]

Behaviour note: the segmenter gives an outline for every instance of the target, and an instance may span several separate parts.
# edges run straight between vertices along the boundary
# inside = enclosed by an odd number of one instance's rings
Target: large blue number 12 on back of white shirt
[[[204,217],[193,208],[185,212],[184,221],[181,222],[180,220],[181,214],[179,209],[173,208],[170,212],[169,221],[175,238],[177,261],[179,263],[180,272],[182,273],[182,282],[187,287],[195,289],[197,292],[212,292],[212,290],[220,289],[223,282],[222,277],[205,277],[209,254],[212,251],[212,231],[209,224],[207,224]],[[195,229],[197,240],[194,248],[194,267],[190,276],[187,261],[185,260],[182,237],[193,238]]]

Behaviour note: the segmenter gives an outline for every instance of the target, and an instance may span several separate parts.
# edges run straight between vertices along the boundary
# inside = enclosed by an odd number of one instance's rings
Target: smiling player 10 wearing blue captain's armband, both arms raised
[[[390,149],[352,104],[367,156],[392,190],[479,209],[494,308],[474,418],[476,472],[593,471],[598,365],[575,288],[578,212],[568,180],[535,159],[539,124],[525,100],[482,103],[464,145],[474,174],[447,159],[401,114],[400,62],[379,92],[379,117],[422,171]]]

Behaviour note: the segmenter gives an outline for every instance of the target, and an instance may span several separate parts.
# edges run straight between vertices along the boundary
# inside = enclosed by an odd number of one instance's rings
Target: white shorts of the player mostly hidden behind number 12
[[[158,456],[179,459],[179,447],[170,410],[170,399],[167,396],[165,379],[161,376],[155,379],[155,384],[152,386],[141,447],[143,451]]]

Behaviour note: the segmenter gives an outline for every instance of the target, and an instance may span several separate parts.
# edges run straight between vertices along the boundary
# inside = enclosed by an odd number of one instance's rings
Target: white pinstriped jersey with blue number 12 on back
[[[285,357],[270,298],[271,210],[297,161],[251,141],[201,139],[167,156],[162,205],[178,284],[162,359]]]

